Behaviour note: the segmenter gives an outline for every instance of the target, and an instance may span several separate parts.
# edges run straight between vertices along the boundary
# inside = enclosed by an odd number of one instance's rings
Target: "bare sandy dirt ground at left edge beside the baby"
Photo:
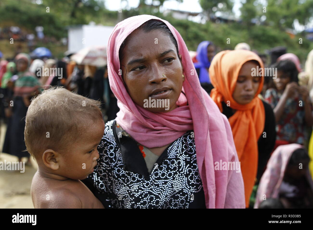
[[[18,158],[2,152],[6,125],[0,127],[0,161],[18,161]],[[23,161],[26,161],[23,158]],[[33,166],[25,166],[25,172],[0,171],[0,208],[34,208],[30,196],[30,186],[33,175],[37,171],[37,164],[32,160]]]

